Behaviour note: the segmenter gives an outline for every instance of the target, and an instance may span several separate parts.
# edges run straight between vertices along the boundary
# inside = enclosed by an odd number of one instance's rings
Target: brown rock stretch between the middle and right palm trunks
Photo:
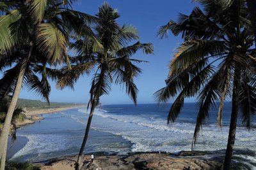
[[[163,153],[135,153],[127,156],[95,157],[93,162],[86,160],[82,169],[118,170],[118,169],[221,169],[221,163],[202,160],[171,157]]]

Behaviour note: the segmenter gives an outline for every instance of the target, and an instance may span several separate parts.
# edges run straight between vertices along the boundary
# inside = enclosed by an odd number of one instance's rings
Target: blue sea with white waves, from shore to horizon
[[[175,123],[166,123],[171,104],[116,104],[103,105],[95,110],[84,153],[105,152],[179,152],[191,150],[198,107],[186,103]],[[230,104],[223,110],[223,127],[216,125],[216,109],[211,109],[209,121],[198,135],[193,150],[223,150],[227,146]],[[44,120],[26,125],[17,131],[19,138],[28,141],[13,153],[12,160],[38,162],[46,159],[74,155],[79,152],[88,118],[86,108],[43,115]],[[256,119],[247,131],[239,119],[236,149],[256,152]],[[253,159],[250,158],[250,159]],[[255,158],[254,158],[254,160]]]

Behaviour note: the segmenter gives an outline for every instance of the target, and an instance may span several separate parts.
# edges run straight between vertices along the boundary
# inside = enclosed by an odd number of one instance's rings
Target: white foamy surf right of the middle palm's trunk
[[[86,113],[84,110],[79,110]],[[166,125],[166,120],[147,117],[147,115],[115,115],[106,110],[95,110],[95,115],[104,118],[104,122],[94,124],[93,129],[102,132],[110,132],[122,136],[124,139],[134,143],[132,151],[155,151],[168,150],[177,152],[179,150],[190,150],[195,124],[175,123]],[[138,129],[133,132],[131,128]],[[144,128],[144,129],[143,129]],[[120,129],[120,130],[118,130]],[[204,125],[198,135],[195,150],[220,150],[225,149],[227,145],[228,127],[221,130],[215,125]],[[254,130],[252,130],[254,131]],[[156,138],[156,136],[159,136]],[[181,137],[182,136],[182,137]],[[236,148],[246,148],[256,150],[253,143],[255,136],[252,132],[244,131],[243,127],[237,127]],[[175,141],[184,140],[184,145]],[[162,141],[160,144],[159,141]],[[168,141],[172,141],[171,143]],[[182,141],[181,141],[182,142]]]

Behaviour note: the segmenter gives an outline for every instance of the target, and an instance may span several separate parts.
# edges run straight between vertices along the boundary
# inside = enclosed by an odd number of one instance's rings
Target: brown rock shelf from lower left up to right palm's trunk
[[[172,157],[170,153],[132,153],[129,155],[96,156],[93,162],[90,156],[83,157],[81,169],[117,170],[117,169],[221,169],[221,162],[204,159]],[[54,160],[49,164],[36,164],[44,170],[74,169],[76,157]]]

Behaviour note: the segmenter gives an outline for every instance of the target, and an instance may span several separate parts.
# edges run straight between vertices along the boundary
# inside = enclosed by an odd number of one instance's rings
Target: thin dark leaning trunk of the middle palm
[[[79,170],[79,165],[81,164],[81,157],[83,156],[84,147],[85,147],[86,141],[88,139],[88,134],[89,134],[89,131],[90,131],[90,126],[91,126],[91,122],[92,122],[93,113],[94,113],[96,104],[99,101],[99,92],[100,92],[101,82],[102,82],[103,78],[104,78],[104,70],[102,69],[101,72],[100,72],[99,85],[97,86],[97,89],[95,91],[95,96],[93,97],[92,106],[91,106],[91,110],[90,110],[90,115],[89,115],[88,122],[87,122],[87,125],[86,125],[86,130],[85,130],[85,133],[84,133],[83,143],[81,145],[79,155],[77,157],[76,170]]]

